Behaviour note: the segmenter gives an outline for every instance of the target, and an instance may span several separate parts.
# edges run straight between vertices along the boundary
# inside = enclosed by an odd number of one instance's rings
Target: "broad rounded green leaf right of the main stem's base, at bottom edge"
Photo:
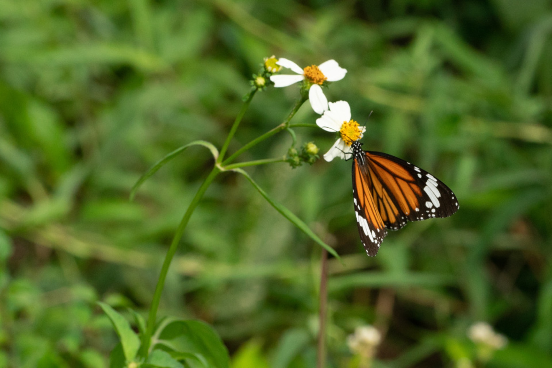
[[[221,338],[213,327],[201,321],[174,321],[160,334],[160,340],[173,340],[178,346],[175,353],[202,355],[209,366],[228,368],[230,356]]]

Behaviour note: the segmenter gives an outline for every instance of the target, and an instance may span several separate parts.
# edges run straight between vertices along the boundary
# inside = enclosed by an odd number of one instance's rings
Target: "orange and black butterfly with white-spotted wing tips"
[[[386,229],[458,211],[452,190],[427,171],[390,154],[364,151],[359,141],[351,148],[354,212],[368,255],[378,253]]]

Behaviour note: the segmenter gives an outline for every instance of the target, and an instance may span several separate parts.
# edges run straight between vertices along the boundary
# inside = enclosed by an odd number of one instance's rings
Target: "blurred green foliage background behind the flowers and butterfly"
[[[489,366],[552,366],[552,5],[546,0],[295,2],[0,0],[0,366],[103,367],[116,335],[95,305],[147,313],[164,252],[263,57],[348,70],[368,150],[442,179],[460,210],[365,255],[351,163],[248,168],[336,249],[328,364],[384,333],[376,367],[452,367],[466,328],[509,339]],[[256,95],[230,152],[279,124],[298,88]],[[374,111],[370,119],[370,111]],[[292,123],[314,123],[308,104]],[[335,137],[296,129],[321,153]],[[280,157],[280,134],[241,157]],[[320,247],[236,174],[209,188],[160,316],[213,324],[234,367],[311,367]],[[124,311],[124,308],[123,310]]]

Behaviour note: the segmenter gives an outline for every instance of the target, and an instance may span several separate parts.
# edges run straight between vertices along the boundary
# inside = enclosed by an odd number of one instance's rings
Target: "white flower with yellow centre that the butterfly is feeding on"
[[[351,145],[362,138],[366,128],[360,127],[358,122],[351,119],[351,107],[347,101],[330,102],[330,110],[316,119],[316,125],[323,130],[339,132],[341,137],[333,144],[332,148],[324,154],[326,161],[332,161],[336,157],[349,158],[352,154]]]

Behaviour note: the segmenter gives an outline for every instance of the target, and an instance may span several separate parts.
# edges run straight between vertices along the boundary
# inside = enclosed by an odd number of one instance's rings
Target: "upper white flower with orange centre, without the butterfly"
[[[284,68],[291,69],[291,71],[297,73],[297,75],[280,74],[278,76],[270,76],[270,81],[274,82],[274,87],[287,87],[291,86],[293,83],[303,80],[306,81],[310,84],[309,102],[312,106],[312,110],[317,114],[322,114],[328,109],[328,100],[320,86],[322,86],[325,81],[340,81],[347,73],[347,70],[340,67],[335,60],[328,60],[321,63],[319,66],[307,66],[304,69],[293,61],[283,57],[279,58],[277,64]]]

